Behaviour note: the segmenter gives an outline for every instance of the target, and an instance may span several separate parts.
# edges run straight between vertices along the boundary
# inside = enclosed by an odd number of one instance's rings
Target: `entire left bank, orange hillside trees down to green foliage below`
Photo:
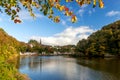
[[[0,80],[27,80],[16,69],[21,42],[0,28]]]

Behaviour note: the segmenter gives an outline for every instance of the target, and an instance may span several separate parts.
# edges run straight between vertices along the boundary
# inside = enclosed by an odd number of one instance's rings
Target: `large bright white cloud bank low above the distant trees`
[[[90,29],[89,26],[80,26],[77,28],[69,27],[61,33],[57,33],[50,37],[32,36],[30,39],[37,41],[42,40],[45,45],[69,45],[76,44],[79,40],[87,38],[95,30]]]

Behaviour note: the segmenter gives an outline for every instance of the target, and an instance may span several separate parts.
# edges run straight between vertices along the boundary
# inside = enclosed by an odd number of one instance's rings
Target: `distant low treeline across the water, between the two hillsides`
[[[24,52],[35,52],[37,54],[46,53],[48,54],[54,54],[54,52],[59,53],[65,53],[65,52],[72,52],[75,48],[75,45],[66,45],[66,46],[50,46],[50,45],[44,45],[41,42],[38,42],[36,40],[29,40],[28,43],[23,44],[20,48],[20,51],[22,53]]]

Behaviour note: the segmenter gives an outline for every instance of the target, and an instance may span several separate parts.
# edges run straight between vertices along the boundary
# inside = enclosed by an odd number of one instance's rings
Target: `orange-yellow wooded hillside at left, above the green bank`
[[[19,42],[0,28],[0,56],[5,59],[18,55]]]

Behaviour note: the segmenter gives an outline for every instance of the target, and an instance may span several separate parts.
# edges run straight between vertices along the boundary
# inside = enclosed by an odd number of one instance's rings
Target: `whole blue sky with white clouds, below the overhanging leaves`
[[[63,0],[61,0],[63,1]],[[114,21],[120,20],[120,1],[103,0],[104,8],[99,5],[93,8],[93,4],[80,7],[77,3],[65,3],[77,16],[78,21],[72,23],[70,17],[66,17],[63,12],[57,11],[61,21],[54,23],[42,13],[36,11],[36,18],[33,19],[29,13],[22,9],[19,16],[22,23],[15,24],[5,13],[0,13],[0,28],[3,28],[9,35],[22,42],[28,42],[30,39],[42,41],[44,45],[76,45],[81,39],[87,37],[93,32],[100,30],[103,26]]]

